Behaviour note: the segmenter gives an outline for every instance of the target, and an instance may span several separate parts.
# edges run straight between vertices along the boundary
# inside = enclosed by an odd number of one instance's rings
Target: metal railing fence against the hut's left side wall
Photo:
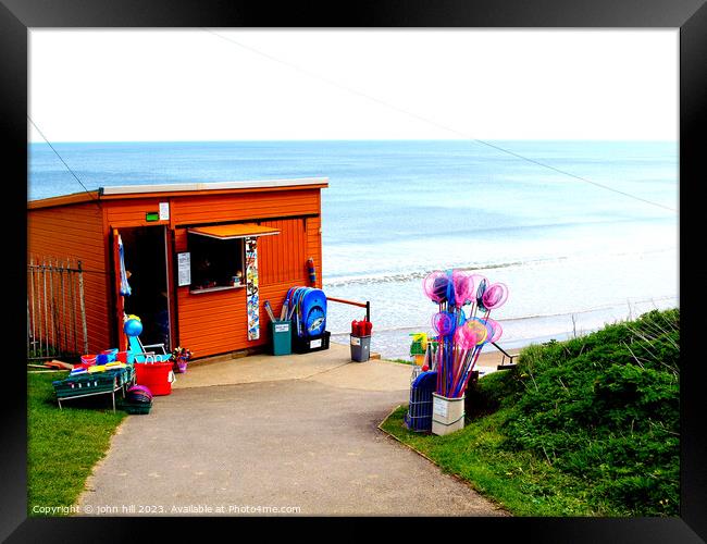
[[[80,261],[41,259],[27,264],[27,359],[88,353]]]

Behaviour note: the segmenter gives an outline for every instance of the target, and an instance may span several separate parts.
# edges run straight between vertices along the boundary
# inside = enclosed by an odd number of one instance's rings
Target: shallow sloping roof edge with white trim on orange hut
[[[215,193],[240,193],[256,190],[285,190],[328,187],[327,177],[302,177],[295,180],[261,180],[245,182],[173,183],[156,185],[119,185],[100,187],[98,190],[74,193],[52,198],[29,200],[27,209],[69,206],[91,200],[115,200],[151,196],[191,196]]]

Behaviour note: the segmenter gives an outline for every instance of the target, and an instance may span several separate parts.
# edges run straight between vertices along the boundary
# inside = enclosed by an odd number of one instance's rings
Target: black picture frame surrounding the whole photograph
[[[496,27],[496,28],[680,28],[680,300],[681,346],[681,507],[679,518],[506,518],[448,520],[458,535],[479,539],[482,530],[506,540],[509,533],[531,542],[702,542],[707,539],[707,447],[704,388],[705,361],[699,337],[707,319],[700,312],[707,296],[697,280],[702,248],[695,233],[707,231],[694,195],[705,183],[700,133],[705,124],[707,77],[707,8],[705,0],[373,0],[359,2],[266,2],[223,0],[1,0],[0,124],[3,144],[5,244],[5,316],[24,317],[26,286],[27,180],[27,28],[28,27]],[[650,112],[646,112],[649,114]],[[700,175],[702,174],[702,175]],[[691,198],[692,197],[692,198]],[[23,228],[24,225],[24,228]],[[694,244],[690,244],[694,239]],[[10,249],[7,248],[10,246]],[[692,268],[691,268],[692,267]],[[704,269],[702,269],[704,270]],[[18,338],[23,318],[3,320],[4,357],[0,362],[0,539],[9,542],[125,542],[134,523],[145,519],[27,519],[26,516],[26,374]],[[183,520],[149,518],[150,526],[181,530]],[[204,521],[204,520],[201,520]],[[213,523],[214,520],[207,520]],[[326,519],[318,526],[322,530]],[[239,527],[247,520],[238,520]],[[272,523],[272,520],[269,520]],[[398,529],[418,531],[420,520]],[[331,526],[330,526],[331,527]],[[469,531],[469,530],[472,531]],[[215,531],[215,529],[214,529]],[[215,532],[213,533],[215,536]],[[326,535],[326,532],[322,532]],[[330,535],[332,533],[328,533]],[[347,533],[351,535],[352,533]],[[412,532],[414,534],[414,532]],[[245,533],[244,533],[245,536]],[[404,532],[396,539],[405,537]],[[419,537],[422,537],[420,534]]]

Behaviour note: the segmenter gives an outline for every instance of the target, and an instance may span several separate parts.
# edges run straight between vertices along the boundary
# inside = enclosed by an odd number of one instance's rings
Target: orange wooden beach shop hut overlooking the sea
[[[188,347],[195,358],[258,350],[270,339],[263,302],[278,312],[289,287],[310,285],[309,258],[321,288],[327,186],[326,178],[131,185],[33,200],[28,255],[82,261],[89,353],[124,347],[123,312],[141,318],[144,344]],[[252,240],[257,263],[246,262]],[[248,270],[258,277],[257,338],[253,331],[249,338]]]

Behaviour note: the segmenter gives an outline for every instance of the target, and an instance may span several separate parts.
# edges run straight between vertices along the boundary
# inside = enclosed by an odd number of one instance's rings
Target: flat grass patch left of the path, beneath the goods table
[[[57,406],[51,382],[67,372],[27,374],[27,515],[35,507],[72,506],[126,413],[107,395]],[[62,515],[57,511],[55,515]]]

